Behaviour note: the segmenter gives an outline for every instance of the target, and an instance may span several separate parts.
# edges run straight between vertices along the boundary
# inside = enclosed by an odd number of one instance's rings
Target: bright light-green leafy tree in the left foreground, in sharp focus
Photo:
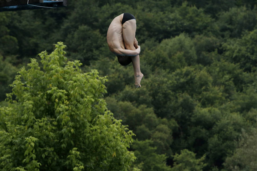
[[[65,45],[18,72],[0,108],[1,170],[128,170],[132,131],[103,100],[106,77],[65,62]],[[13,100],[13,98],[15,98]]]

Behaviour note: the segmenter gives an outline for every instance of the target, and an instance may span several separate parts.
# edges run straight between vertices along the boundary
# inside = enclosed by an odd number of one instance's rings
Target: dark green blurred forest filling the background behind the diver
[[[121,13],[136,17],[141,88],[106,33]],[[0,105],[15,75],[64,42],[69,61],[107,76],[107,108],[136,136],[141,170],[257,168],[255,0],[68,1],[59,9],[0,13]]]

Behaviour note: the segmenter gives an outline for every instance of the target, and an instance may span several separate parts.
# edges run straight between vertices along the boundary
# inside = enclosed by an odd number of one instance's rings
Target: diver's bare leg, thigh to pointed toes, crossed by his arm
[[[134,38],[136,35],[136,20],[128,20],[122,25],[123,41],[126,49],[136,50],[134,47]],[[141,87],[140,82],[143,78],[143,74],[140,71],[140,60],[139,55],[131,56],[133,68],[134,68],[134,78],[135,86]]]

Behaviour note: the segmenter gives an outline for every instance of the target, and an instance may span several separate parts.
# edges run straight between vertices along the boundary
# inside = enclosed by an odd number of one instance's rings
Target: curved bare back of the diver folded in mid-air
[[[115,49],[124,48],[123,36],[122,36],[122,19],[123,14],[115,17],[111,22],[108,31],[107,31],[107,44],[111,52],[116,55],[120,55],[115,53]]]

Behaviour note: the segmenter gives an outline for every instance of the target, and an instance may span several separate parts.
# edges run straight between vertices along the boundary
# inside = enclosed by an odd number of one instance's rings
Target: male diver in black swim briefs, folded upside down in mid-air
[[[132,62],[135,86],[141,87],[143,74],[140,71],[140,46],[135,38],[136,18],[130,13],[123,13],[113,19],[107,31],[107,44],[111,52],[118,57],[121,65]]]

